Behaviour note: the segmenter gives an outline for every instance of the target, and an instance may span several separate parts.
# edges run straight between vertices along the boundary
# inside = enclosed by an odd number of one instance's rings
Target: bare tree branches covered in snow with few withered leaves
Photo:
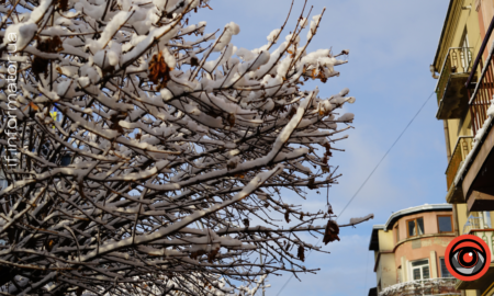
[[[306,52],[324,11],[238,48],[235,23],[189,24],[212,5],[0,4],[1,295],[244,294],[315,271],[300,232],[339,240],[333,213],[281,193],[338,177],[353,115],[335,111],[355,99],[302,86],[339,76],[348,50]]]

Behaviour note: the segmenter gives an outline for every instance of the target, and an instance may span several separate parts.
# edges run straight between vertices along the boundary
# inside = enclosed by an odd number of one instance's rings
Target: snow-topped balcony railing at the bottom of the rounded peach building
[[[453,277],[412,281],[389,286],[379,296],[461,295],[454,289],[456,283],[457,278]]]

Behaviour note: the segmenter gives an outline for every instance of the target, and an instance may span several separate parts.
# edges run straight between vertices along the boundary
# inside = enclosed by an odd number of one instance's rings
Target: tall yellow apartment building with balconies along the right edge
[[[436,117],[444,122],[446,202],[456,235],[481,237],[494,258],[494,107],[492,0],[451,0],[430,66],[438,79]],[[438,75],[436,75],[438,72]],[[458,281],[467,296],[494,295],[494,263],[481,278]]]

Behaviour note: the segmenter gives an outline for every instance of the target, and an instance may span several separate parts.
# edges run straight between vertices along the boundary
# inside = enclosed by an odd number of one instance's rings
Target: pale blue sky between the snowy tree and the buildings
[[[433,62],[448,7],[447,0],[308,0],[313,15],[324,7],[326,13],[310,52],[333,47],[334,53],[350,49],[349,64],[339,66],[341,76],[318,86],[319,95],[330,96],[350,89],[357,102],[346,107],[356,115],[355,129],[330,160],[343,177],[332,187],[330,202],[339,213],[374,166],[393,144],[424,101],[435,90],[429,65]],[[232,21],[240,34],[232,43],[254,49],[267,43],[266,36],[283,22],[289,0],[215,0],[212,11],[203,9],[193,21],[207,21],[206,32],[214,32]],[[303,1],[295,0],[287,34],[299,16]],[[191,21],[192,21],[191,20]],[[305,35],[305,34],[304,34]],[[283,35],[284,36],[284,35]],[[314,274],[292,278],[280,294],[291,295],[367,295],[375,286],[373,254],[368,251],[373,224],[383,224],[402,208],[425,203],[445,203],[447,166],[441,122],[435,117],[437,103],[430,99],[415,122],[396,144],[360,194],[338,219],[373,213],[375,218],[357,228],[344,228],[341,241],[324,247],[330,254],[312,253],[307,267],[321,267]],[[315,191],[304,206],[323,208],[325,196]],[[308,241],[316,242],[307,237]],[[367,262],[367,263],[366,263]],[[266,295],[278,295],[290,274],[270,276]],[[367,277],[367,281],[366,281]]]

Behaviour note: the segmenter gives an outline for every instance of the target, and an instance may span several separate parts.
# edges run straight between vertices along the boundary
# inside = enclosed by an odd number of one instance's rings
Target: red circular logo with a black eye
[[[445,261],[452,276],[471,282],[487,272],[491,264],[491,250],[480,237],[463,235],[448,244]]]

